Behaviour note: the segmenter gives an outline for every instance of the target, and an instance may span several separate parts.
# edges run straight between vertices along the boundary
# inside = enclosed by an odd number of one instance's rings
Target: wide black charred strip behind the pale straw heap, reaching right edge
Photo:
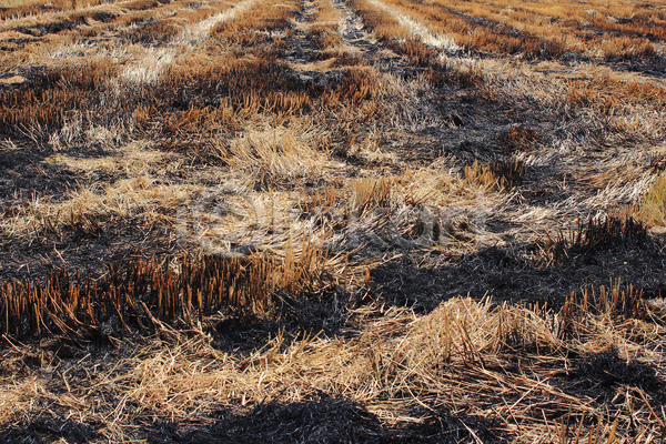
[[[610,285],[614,280],[633,283],[646,295],[666,292],[660,242],[628,242],[579,258],[544,265],[528,254],[488,246],[471,254],[423,264],[423,258],[405,255],[371,271],[377,296],[401,306],[430,311],[458,295],[496,301],[548,301],[561,306],[567,294],[581,289]]]

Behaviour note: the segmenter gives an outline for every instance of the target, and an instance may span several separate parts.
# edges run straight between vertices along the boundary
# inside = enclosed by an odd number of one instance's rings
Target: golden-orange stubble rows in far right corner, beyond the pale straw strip
[[[458,46],[528,58],[561,58],[571,51],[612,60],[645,61],[656,56],[655,47],[646,37],[664,39],[663,13],[647,19],[640,12],[632,14],[601,4],[598,9],[597,6],[575,6],[564,12],[554,2],[390,3],[423,20],[441,34],[450,36]]]

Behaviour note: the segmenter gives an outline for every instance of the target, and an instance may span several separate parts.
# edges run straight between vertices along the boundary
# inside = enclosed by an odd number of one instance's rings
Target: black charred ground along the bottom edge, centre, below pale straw
[[[423,412],[422,412],[423,413]],[[266,403],[246,414],[220,412],[212,426],[179,432],[178,424],[159,424],[150,443],[460,443],[472,433],[487,442],[505,442],[493,420],[453,415],[436,410],[420,423],[386,426],[354,401],[322,396],[300,403]]]

